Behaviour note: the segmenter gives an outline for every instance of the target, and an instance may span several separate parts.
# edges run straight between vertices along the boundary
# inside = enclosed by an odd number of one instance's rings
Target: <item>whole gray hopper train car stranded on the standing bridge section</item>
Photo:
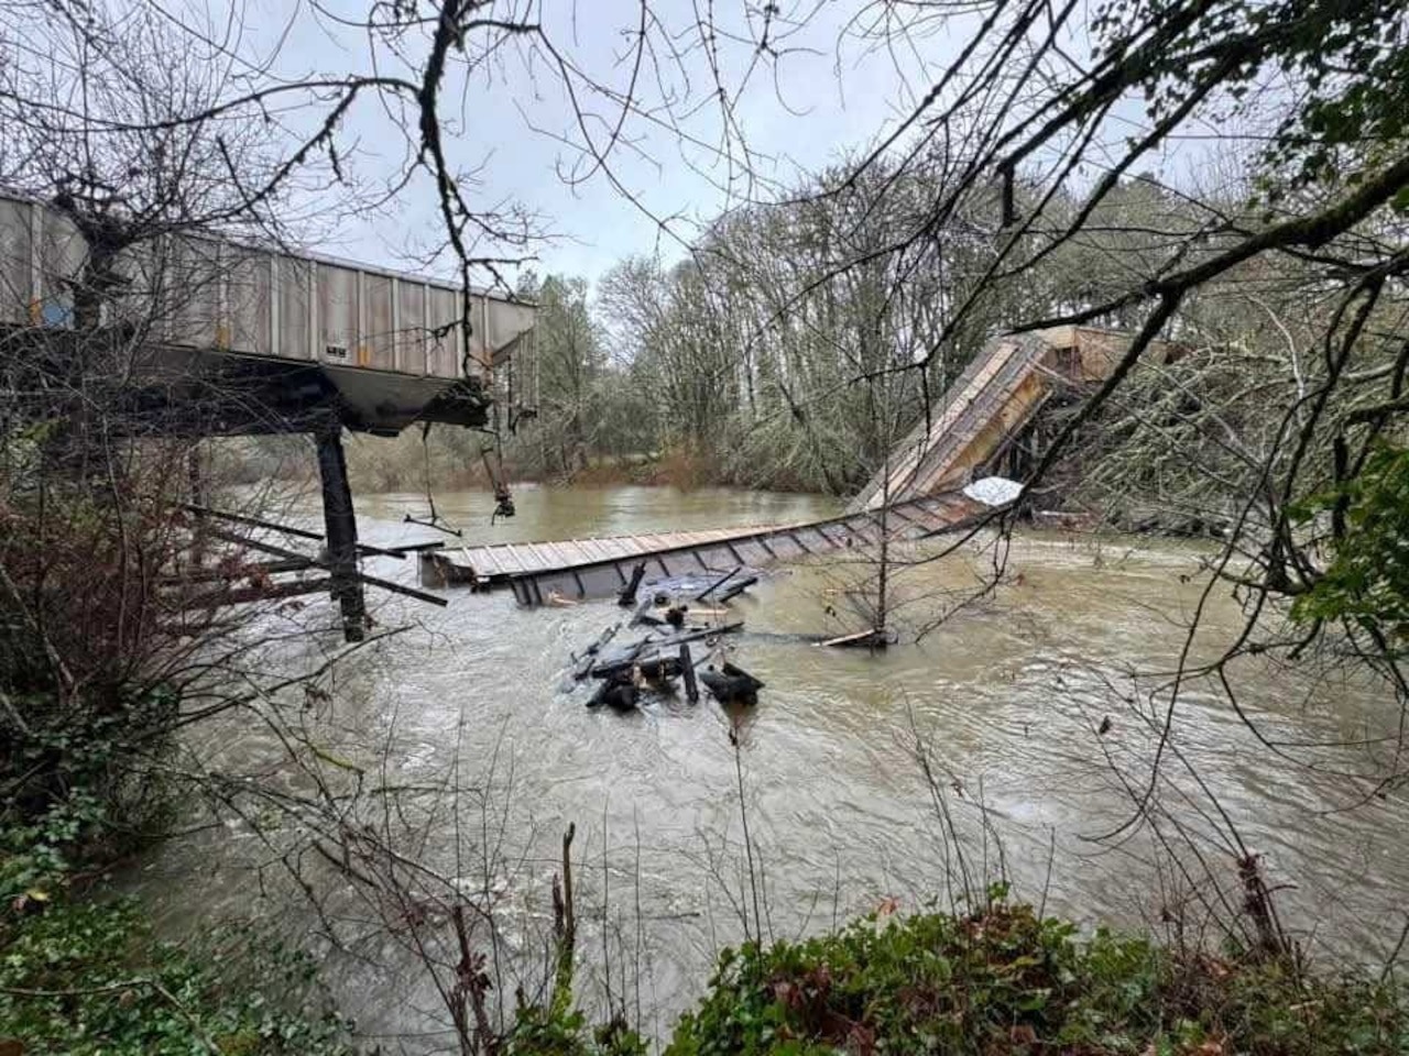
[[[0,194],[6,332],[75,329],[90,263],[63,211]],[[114,272],[103,328],[141,331],[175,373],[228,375],[234,365],[251,377],[325,383],[352,428],[396,432],[427,415],[480,424],[496,373],[531,376],[534,307],[509,296],[466,298],[454,283],[407,272],[189,235],[142,241]]]

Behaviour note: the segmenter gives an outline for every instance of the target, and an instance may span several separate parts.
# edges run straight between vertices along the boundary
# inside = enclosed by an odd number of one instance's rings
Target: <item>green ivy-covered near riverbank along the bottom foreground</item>
[[[720,955],[665,1056],[1062,1052],[1081,1056],[1320,1056],[1409,1052],[1409,1005],[1379,979],[1319,977],[1289,956],[1177,949],[1005,900],[965,914],[893,903],[844,929]],[[561,926],[561,925],[559,925]],[[559,932],[561,934],[561,932]],[[161,943],[131,903],[59,900],[0,922],[0,1052],[25,1056],[356,1056],[314,963],[224,929]],[[566,948],[571,962],[572,948]],[[511,1024],[447,1031],[486,1056],[641,1056],[624,1008],[589,1025],[562,969],[552,1000]],[[493,984],[485,976],[485,986]],[[503,980],[499,980],[502,984]],[[466,1048],[468,1046],[468,1048]]]

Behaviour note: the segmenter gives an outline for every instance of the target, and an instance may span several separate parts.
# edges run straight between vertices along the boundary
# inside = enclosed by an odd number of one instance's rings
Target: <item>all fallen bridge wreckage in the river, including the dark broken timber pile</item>
[[[576,604],[619,594],[634,604],[647,574],[662,583],[686,576],[710,577],[703,593],[726,603],[748,586],[747,569],[828,551],[914,542],[961,532],[991,521],[1023,496],[1022,479],[1051,442],[1054,418],[1109,377],[1129,348],[1129,335],[1085,327],[1060,327],[993,338],[974,358],[907,435],[845,513],[793,525],[721,528],[628,535],[603,539],[519,542],[447,548],[420,555],[427,587],[509,587],[523,605]],[[1160,345],[1154,355],[1171,356]],[[1057,414],[1041,414],[1051,406]],[[885,560],[882,558],[882,566]],[[720,567],[730,572],[720,573]],[[731,586],[730,586],[730,582]],[[621,625],[609,628],[582,658],[573,658],[578,681],[599,687],[590,707],[633,708],[643,693],[685,679],[690,701],[703,683],[720,701],[752,703],[762,683],[724,663],[696,672],[690,646],[717,642],[741,621],[695,622],[689,604],[640,605],[631,627],[650,629],[630,645],[614,645]],[[657,614],[659,612],[659,614]],[[717,615],[717,612],[716,612]],[[885,648],[883,625],[819,642],[833,646]]]

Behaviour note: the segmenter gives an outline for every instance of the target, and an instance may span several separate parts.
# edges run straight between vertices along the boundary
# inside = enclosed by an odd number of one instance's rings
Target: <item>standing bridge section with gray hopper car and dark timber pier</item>
[[[345,634],[359,638],[364,583],[393,584],[358,569],[372,548],[358,542],[342,429],[475,428],[495,400],[523,403],[534,383],[534,307],[209,235],[103,244],[114,222],[0,194],[0,370],[13,407],[49,422],[58,451],[80,449],[94,431],[311,435],[325,524],[313,538],[325,556],[306,565],[331,573]],[[292,567],[296,558],[282,560]]]

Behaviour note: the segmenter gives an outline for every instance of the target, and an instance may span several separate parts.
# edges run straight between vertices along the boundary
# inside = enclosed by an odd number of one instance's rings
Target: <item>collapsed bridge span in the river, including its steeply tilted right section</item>
[[[509,587],[521,604],[538,605],[612,596],[641,565],[654,577],[695,576],[875,546],[882,535],[916,541],[971,528],[992,514],[992,505],[968,486],[991,474],[1023,480],[1060,428],[1061,414],[1110,376],[1129,345],[1127,334],[1091,327],[992,338],[838,517],[452,548],[421,555],[421,582]],[[1174,352],[1172,345],[1154,342],[1150,356]]]

